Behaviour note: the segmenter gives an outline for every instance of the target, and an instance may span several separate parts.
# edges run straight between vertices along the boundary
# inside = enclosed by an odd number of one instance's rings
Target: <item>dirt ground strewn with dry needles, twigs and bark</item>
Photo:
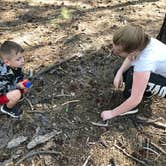
[[[122,61],[110,53],[112,34],[134,23],[156,37],[165,9],[165,0],[0,0],[0,42],[25,48],[33,84],[20,119],[0,114],[0,165],[165,166],[164,99],[98,125],[123,101],[112,86]]]

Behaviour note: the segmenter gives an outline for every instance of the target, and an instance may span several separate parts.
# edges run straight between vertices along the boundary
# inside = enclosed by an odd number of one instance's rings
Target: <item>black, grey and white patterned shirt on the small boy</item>
[[[0,61],[0,95],[18,89],[17,83],[23,78],[21,68],[13,69]]]

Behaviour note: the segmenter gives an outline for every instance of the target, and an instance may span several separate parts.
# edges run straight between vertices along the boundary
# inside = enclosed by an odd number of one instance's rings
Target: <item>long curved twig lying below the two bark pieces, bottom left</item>
[[[22,163],[24,160],[26,160],[27,158],[33,157],[35,155],[61,155],[61,152],[57,152],[57,151],[38,151],[38,152],[30,152],[27,155],[25,155],[22,159],[20,159],[19,161],[17,161],[15,163],[15,165],[19,165],[20,163]]]

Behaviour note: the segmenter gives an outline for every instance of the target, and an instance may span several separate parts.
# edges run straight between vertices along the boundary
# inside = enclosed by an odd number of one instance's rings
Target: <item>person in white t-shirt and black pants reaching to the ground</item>
[[[126,100],[101,113],[103,120],[138,112],[144,95],[166,98],[166,45],[149,37],[140,26],[125,26],[113,36],[113,53],[125,60],[114,78],[118,89],[125,82]]]

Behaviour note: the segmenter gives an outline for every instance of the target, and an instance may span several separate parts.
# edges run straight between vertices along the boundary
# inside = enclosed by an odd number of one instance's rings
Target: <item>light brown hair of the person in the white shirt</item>
[[[115,32],[113,43],[121,45],[123,51],[130,53],[135,50],[143,50],[149,43],[149,36],[141,26],[127,25]]]

